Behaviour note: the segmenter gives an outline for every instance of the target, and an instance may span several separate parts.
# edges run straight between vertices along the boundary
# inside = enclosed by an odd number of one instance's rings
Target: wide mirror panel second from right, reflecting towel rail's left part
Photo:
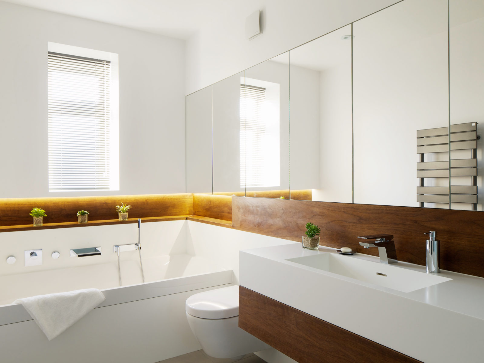
[[[449,154],[417,154],[418,130],[448,127],[447,0],[399,2],[355,22],[353,35],[354,202],[418,207],[417,162]],[[422,186],[448,185],[447,173]]]

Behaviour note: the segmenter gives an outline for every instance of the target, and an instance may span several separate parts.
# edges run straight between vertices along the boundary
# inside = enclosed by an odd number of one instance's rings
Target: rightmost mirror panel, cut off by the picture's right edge
[[[450,122],[452,139],[473,139],[475,135],[459,132],[453,133],[453,125],[477,123],[477,135],[484,135],[484,2],[474,0],[449,1],[450,32]],[[471,125],[472,126],[472,125]],[[461,210],[483,210],[482,189],[482,147],[483,140],[472,142],[476,149],[451,150],[451,160],[476,162],[476,167],[452,169],[451,174],[451,208]],[[468,174],[465,176],[455,175]],[[473,174],[477,174],[474,176]],[[462,186],[470,187],[462,194]],[[477,191],[475,191],[477,186]],[[466,201],[464,203],[463,201]]]

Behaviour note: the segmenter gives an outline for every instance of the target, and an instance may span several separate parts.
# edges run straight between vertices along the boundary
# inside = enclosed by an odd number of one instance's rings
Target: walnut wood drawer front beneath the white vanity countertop
[[[239,294],[239,326],[297,362],[420,362],[248,288]]]

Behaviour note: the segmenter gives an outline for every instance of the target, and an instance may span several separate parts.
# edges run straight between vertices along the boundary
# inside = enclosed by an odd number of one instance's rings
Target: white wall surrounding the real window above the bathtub
[[[119,54],[119,191],[48,192],[47,42]],[[0,198],[185,192],[184,48],[178,39],[0,1]]]

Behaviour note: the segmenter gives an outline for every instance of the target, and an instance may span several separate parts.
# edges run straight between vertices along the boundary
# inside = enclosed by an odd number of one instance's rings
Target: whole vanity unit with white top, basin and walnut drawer
[[[240,253],[239,326],[298,362],[478,363],[484,279],[300,243]]]

